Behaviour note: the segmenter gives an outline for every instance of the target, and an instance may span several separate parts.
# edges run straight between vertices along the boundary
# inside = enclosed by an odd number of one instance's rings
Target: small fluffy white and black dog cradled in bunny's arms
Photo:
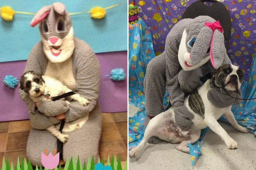
[[[41,76],[33,71],[25,72],[20,78],[20,89],[28,93],[34,102],[42,100],[52,100],[52,97],[58,96],[64,93],[72,92],[67,86],[63,85],[59,80],[50,76]],[[73,94],[68,98],[78,101],[82,105],[88,105],[89,100],[80,96],[79,94]],[[62,98],[62,100],[65,100]],[[70,102],[65,100],[68,105]],[[68,141],[68,135],[62,134],[54,125],[47,128],[55,137],[61,142]]]

